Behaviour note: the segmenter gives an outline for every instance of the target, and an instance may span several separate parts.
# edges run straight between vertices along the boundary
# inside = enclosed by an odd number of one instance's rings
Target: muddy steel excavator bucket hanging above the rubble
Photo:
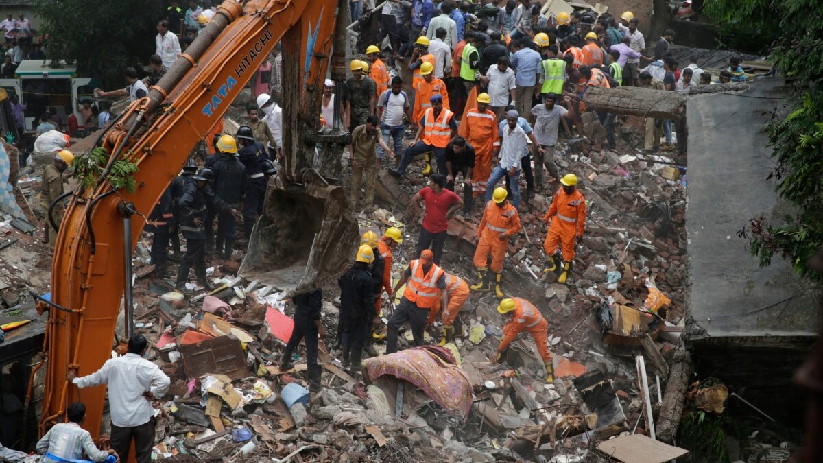
[[[340,186],[305,171],[302,184],[273,176],[263,216],[254,225],[240,276],[286,292],[317,288],[351,266],[360,243],[357,222]]]

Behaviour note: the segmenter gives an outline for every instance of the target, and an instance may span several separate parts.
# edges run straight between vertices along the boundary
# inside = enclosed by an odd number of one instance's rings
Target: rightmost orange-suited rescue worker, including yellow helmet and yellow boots
[[[548,259],[543,273],[560,269],[557,246],[561,246],[563,273],[557,278],[557,283],[562,284],[569,278],[571,262],[574,260],[574,246],[583,240],[583,232],[586,229],[586,199],[576,188],[577,175],[564,175],[560,179],[560,184],[562,186],[557,189],[555,197],[551,199],[551,206],[543,217],[546,222],[554,217],[546,233],[546,241],[543,242],[543,250]]]

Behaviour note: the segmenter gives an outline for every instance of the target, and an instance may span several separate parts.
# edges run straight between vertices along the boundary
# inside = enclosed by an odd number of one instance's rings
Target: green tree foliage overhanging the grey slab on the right
[[[818,0],[706,0],[704,12],[772,38],[769,58],[787,79],[790,114],[765,125],[781,199],[795,210],[783,222],[753,219],[742,234],[760,265],[777,254],[797,274],[819,280],[807,260],[823,245],[823,8]]]

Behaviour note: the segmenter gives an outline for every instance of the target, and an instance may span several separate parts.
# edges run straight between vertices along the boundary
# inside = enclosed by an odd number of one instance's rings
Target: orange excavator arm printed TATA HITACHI
[[[127,314],[132,304],[131,282],[126,283],[130,253],[145,217],[178,175],[192,147],[221,120],[281,38],[284,71],[288,70],[283,124],[287,154],[277,182],[309,189],[300,182],[312,185],[306,180],[319,177],[311,169],[311,160],[314,143],[323,140],[314,139],[314,133],[319,129],[328,68],[332,79],[340,82],[346,77],[344,48],[336,45],[332,55],[332,40],[345,32],[347,8],[346,0],[226,0],[165,77],[100,138],[98,144],[109,153],[109,168],[117,159],[137,163],[137,189],[133,194],[114,189],[105,179],[106,170],[94,188],[78,189],[72,195],[63,215],[53,257],[41,434],[62,422],[67,405],[80,398],[77,388],[65,379],[67,371],[88,375],[110,358],[124,288],[128,289]],[[328,196],[342,195],[331,190]],[[351,255],[356,222],[345,206],[332,209],[340,217],[323,218],[323,226],[343,231],[345,239],[338,250]],[[126,217],[133,217],[132,227],[126,225]],[[342,261],[345,264],[346,258]],[[301,284],[308,286],[310,280],[303,278]],[[104,399],[104,386],[82,391],[84,428],[92,436],[100,433]]]

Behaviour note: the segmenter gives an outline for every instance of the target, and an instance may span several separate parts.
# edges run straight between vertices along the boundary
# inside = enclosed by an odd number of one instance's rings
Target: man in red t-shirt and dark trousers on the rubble
[[[443,175],[434,174],[429,177],[429,186],[421,189],[412,197],[412,207],[418,217],[423,217],[420,221],[420,237],[417,239],[417,250],[414,257],[431,246],[431,251],[435,255],[435,264],[440,263],[440,255],[443,255],[449,217],[463,208],[463,199],[460,199],[453,191],[445,189],[445,186],[446,178]],[[425,210],[420,206],[421,201],[425,202]]]

